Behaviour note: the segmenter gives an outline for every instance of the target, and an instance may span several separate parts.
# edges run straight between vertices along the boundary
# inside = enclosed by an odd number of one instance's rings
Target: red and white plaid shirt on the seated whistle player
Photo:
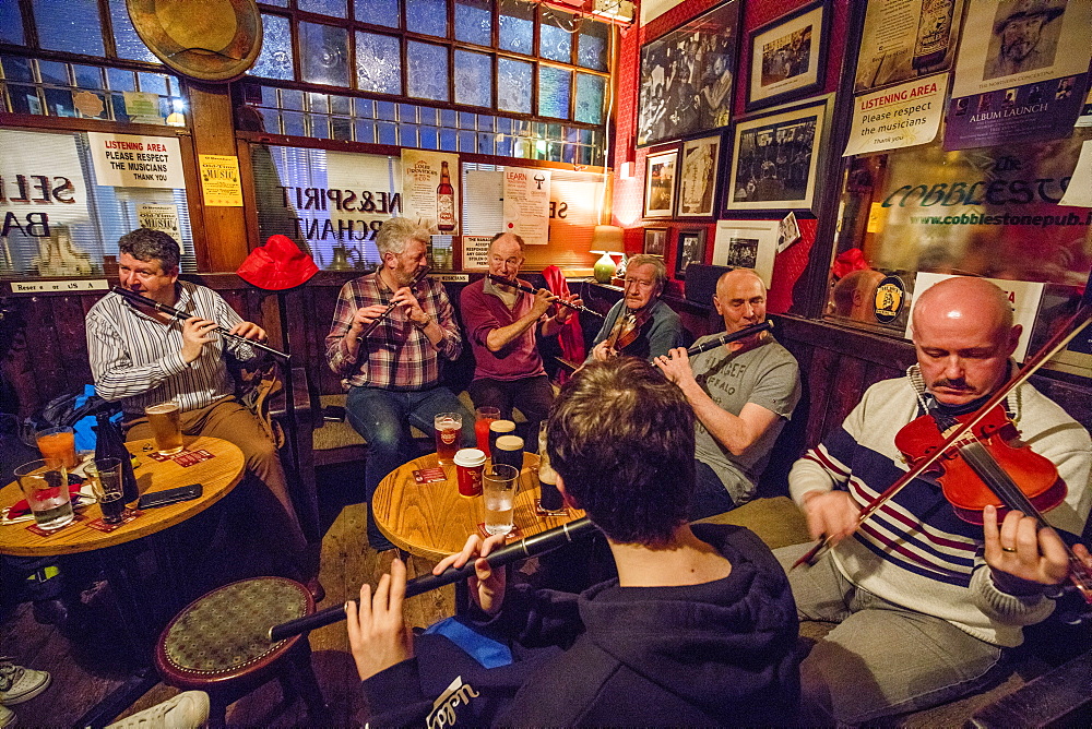
[[[440,380],[439,355],[454,360],[462,351],[462,334],[443,284],[427,276],[417,285],[415,296],[425,313],[443,330],[443,338],[436,346],[423,330],[413,325],[405,310],[397,307],[366,340],[358,338],[356,346],[349,347],[345,335],[353,325],[356,310],[376,303],[385,307],[393,296],[378,273],[354,278],[342,286],[334,307],[334,321],[327,335],[327,362],[341,375],[346,390],[351,386],[400,392],[427,390]]]

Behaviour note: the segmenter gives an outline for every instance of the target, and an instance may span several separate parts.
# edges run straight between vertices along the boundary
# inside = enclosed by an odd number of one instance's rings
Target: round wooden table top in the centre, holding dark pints
[[[438,465],[435,453],[414,458],[388,474],[371,500],[376,526],[392,543],[436,561],[462,550],[466,537],[480,534],[478,524],[485,522],[485,501],[459,494],[453,465],[440,466],[448,477],[446,481],[414,480],[413,471]],[[535,513],[538,491],[538,456],[524,453],[513,514],[518,537],[530,537],[584,515],[570,509],[566,516],[539,516]]]

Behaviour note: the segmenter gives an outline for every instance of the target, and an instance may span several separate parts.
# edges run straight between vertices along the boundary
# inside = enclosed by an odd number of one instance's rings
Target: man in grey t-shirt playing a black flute
[[[765,285],[748,268],[729,271],[716,282],[713,307],[727,332],[761,323]],[[750,501],[770,449],[800,398],[796,359],[763,332],[693,359],[686,349],[673,349],[655,363],[682,390],[698,416],[698,493],[690,518]]]

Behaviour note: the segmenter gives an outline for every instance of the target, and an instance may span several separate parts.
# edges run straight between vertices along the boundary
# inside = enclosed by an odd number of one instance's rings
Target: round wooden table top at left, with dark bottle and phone
[[[130,441],[126,446],[136,454],[140,461],[133,473],[136,476],[138,490],[142,495],[179,486],[201,483],[203,487],[201,498],[145,510],[135,519],[108,533],[87,526],[103,515],[97,503],[78,510],[76,514],[84,517],[82,521],[61,527],[48,537],[28,531],[26,527],[33,522],[0,526],[0,553],[51,557],[88,552],[162,531],[204,511],[230,493],[242,478],[246,461],[237,445],[218,438],[202,435],[194,439],[186,438],[185,442],[187,451],[205,450],[214,457],[183,468],[174,461],[159,462],[152,458],[150,455],[152,450],[144,450],[145,445],[152,445],[152,439]],[[0,507],[10,506],[22,498],[19,483],[9,483],[0,489]]]

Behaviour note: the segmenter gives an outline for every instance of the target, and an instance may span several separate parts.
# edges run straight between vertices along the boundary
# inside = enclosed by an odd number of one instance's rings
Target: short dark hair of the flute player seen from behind
[[[548,429],[566,492],[612,540],[663,545],[687,522],[693,409],[652,364],[586,364],[561,389]]]

